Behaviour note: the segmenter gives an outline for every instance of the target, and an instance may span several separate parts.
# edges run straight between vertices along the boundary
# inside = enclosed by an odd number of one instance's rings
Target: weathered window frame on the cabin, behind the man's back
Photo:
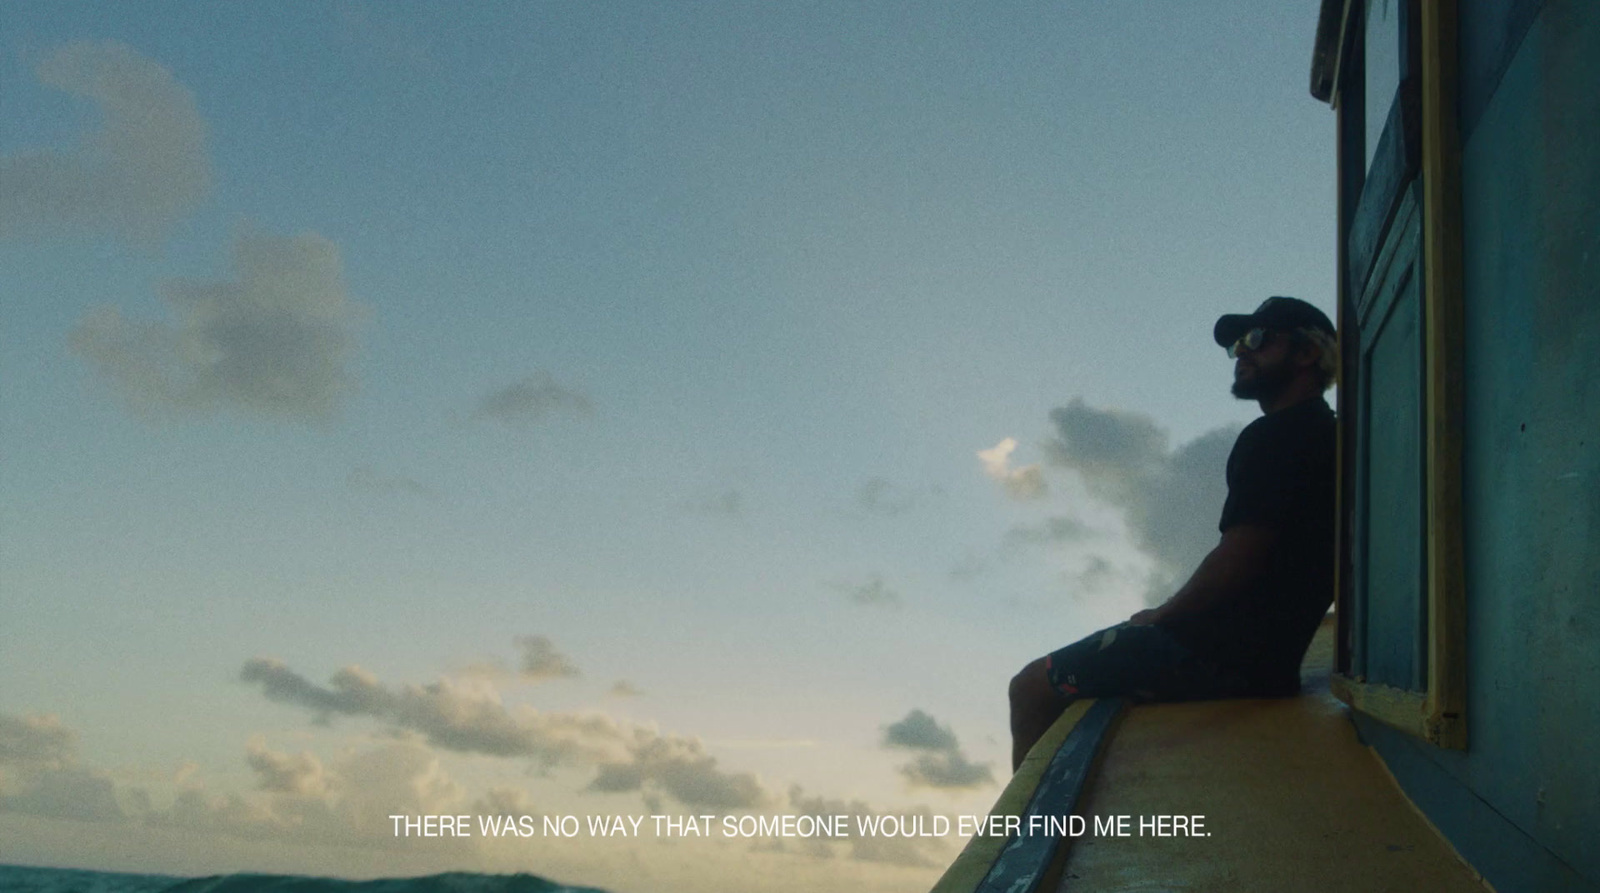
[[[1312,91],[1338,115],[1339,181],[1339,483],[1338,483],[1338,651],[1333,693],[1352,709],[1408,731],[1440,747],[1464,749],[1466,727],[1466,579],[1462,565],[1462,274],[1461,274],[1461,141],[1456,109],[1456,0],[1413,0],[1403,8],[1400,58],[1406,64],[1389,115],[1390,142],[1402,170],[1378,170],[1368,184],[1365,96],[1365,0],[1325,0],[1318,46],[1312,61]],[[1338,22],[1338,27],[1334,27]],[[1334,43],[1336,42],[1336,43]],[[1331,46],[1330,46],[1331,45]],[[1331,66],[1330,66],[1331,61]],[[1330,72],[1331,67],[1331,72]],[[1410,83],[1408,83],[1410,82]],[[1379,99],[1382,101],[1382,99]],[[1413,126],[1414,125],[1414,126]],[[1410,141],[1406,138],[1411,138]],[[1406,146],[1410,142],[1410,146]],[[1414,157],[1418,165],[1405,163]],[[1379,147],[1382,154],[1382,147]],[[1413,168],[1413,170],[1403,170]],[[1357,507],[1355,426],[1350,398],[1360,338],[1355,302],[1373,274],[1382,242],[1362,258],[1350,256],[1350,234],[1360,226],[1386,227],[1410,192],[1422,181],[1422,424],[1427,623],[1426,690],[1402,690],[1350,675],[1352,623],[1357,605],[1352,583],[1352,539]],[[1373,189],[1368,189],[1371,186]]]

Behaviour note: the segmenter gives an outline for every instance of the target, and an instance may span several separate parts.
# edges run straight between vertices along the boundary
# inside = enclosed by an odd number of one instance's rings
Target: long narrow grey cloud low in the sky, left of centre
[[[531,707],[510,711],[493,690],[467,690],[450,680],[389,688],[355,666],[338,671],[322,687],[278,661],[253,658],[240,671],[240,680],[259,685],[270,701],[310,711],[317,722],[365,715],[462,754],[558,763],[603,759],[616,752],[622,738],[606,717],[541,714]]]

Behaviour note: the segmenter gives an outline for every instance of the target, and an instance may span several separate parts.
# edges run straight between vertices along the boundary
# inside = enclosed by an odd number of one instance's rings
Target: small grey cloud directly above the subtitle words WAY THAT
[[[718,811],[754,810],[774,802],[757,776],[718,770],[717,759],[706,754],[698,739],[648,730],[634,735],[629,759],[600,763],[590,791],[642,791]]]

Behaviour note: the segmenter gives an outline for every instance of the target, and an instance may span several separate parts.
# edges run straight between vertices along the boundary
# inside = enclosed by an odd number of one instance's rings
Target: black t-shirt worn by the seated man
[[[1270,565],[1243,597],[1162,624],[1264,695],[1299,688],[1306,647],[1333,602],[1334,440],[1334,414],[1322,397],[1261,416],[1238,434],[1218,528],[1277,530]]]

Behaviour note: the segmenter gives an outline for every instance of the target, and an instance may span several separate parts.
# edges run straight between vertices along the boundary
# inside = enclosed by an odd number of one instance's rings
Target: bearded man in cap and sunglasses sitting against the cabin
[[[1077,698],[1262,698],[1299,691],[1333,602],[1333,323],[1294,298],[1216,322],[1234,395],[1264,413],[1227,458],[1222,539],[1166,603],[1032,661],[1011,680],[1011,768]]]

